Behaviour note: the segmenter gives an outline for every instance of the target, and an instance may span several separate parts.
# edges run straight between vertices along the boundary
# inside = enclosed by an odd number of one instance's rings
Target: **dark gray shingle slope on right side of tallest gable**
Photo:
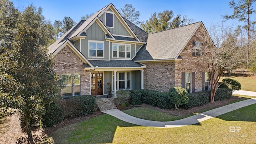
[[[146,42],[147,41],[147,39],[148,39],[148,33],[147,32],[145,32],[144,30],[142,30],[141,28],[139,28],[138,26],[136,26],[135,24],[133,24],[129,20],[126,20],[126,18],[124,18],[124,20],[126,21],[128,26],[130,26],[130,28],[132,29],[134,34],[138,37],[138,39],[141,42]]]

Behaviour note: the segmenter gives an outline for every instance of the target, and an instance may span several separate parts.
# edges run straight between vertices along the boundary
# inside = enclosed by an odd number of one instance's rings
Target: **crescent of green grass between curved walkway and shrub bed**
[[[153,121],[160,121],[160,122],[179,120],[179,119],[194,115],[194,114],[189,114],[184,116],[172,116],[170,114],[165,114],[163,112],[152,110],[150,108],[132,108],[129,110],[125,110],[124,113],[134,116],[136,118],[142,118],[145,120],[153,120]]]

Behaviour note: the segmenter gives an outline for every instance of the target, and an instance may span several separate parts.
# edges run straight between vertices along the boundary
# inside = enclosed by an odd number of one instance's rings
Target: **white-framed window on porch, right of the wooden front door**
[[[118,72],[117,76],[117,90],[131,89],[131,72]]]

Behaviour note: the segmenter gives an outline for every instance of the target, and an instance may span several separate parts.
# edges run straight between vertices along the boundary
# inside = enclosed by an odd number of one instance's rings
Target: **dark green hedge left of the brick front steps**
[[[86,116],[96,109],[95,97],[90,95],[71,96],[59,101],[64,117]]]

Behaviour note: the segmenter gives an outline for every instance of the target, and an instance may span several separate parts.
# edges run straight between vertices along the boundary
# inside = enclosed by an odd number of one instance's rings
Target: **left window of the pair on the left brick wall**
[[[72,75],[62,74],[62,82],[66,85],[62,90],[62,96],[72,96]]]

